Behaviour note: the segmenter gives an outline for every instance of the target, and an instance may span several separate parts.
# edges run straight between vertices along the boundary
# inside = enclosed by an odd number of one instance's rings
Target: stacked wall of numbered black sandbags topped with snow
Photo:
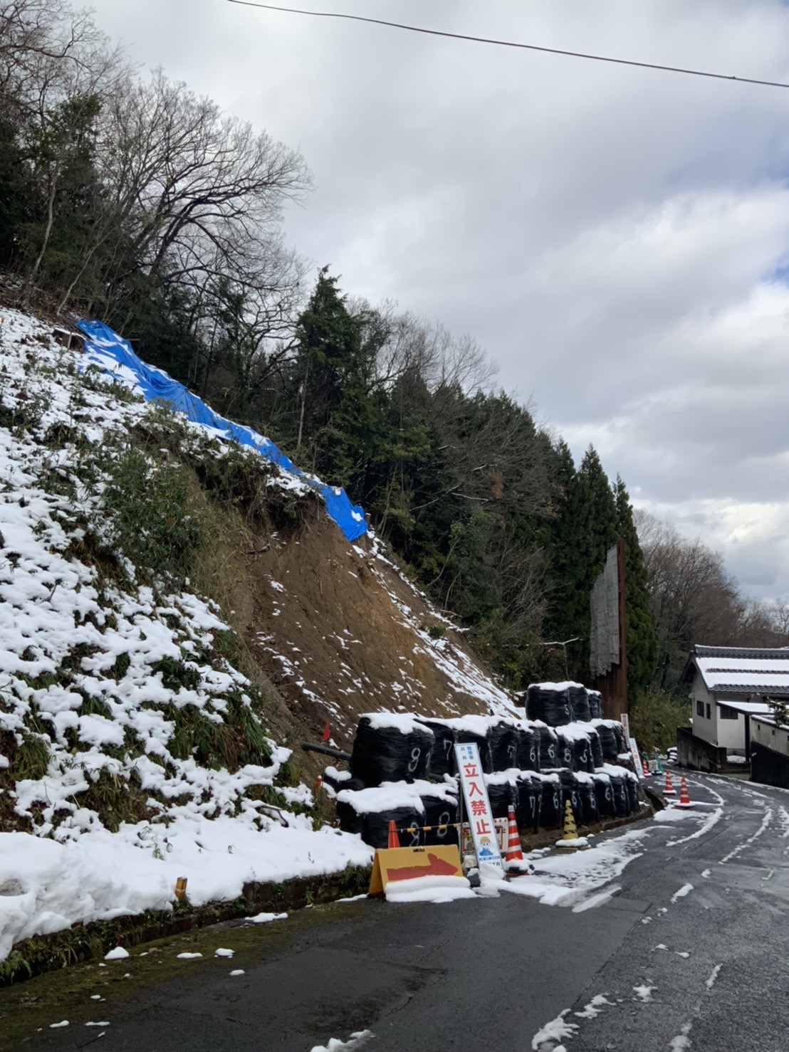
[[[602,717],[596,691],[541,683],[521,696],[525,720],[365,713],[349,770],[324,771],[341,828],[372,847],[386,846],[392,821],[403,846],[457,843],[454,745],[468,742],[478,746],[493,816],[511,808],[520,829],[561,830],[568,802],[579,826],[638,811],[624,730]]]

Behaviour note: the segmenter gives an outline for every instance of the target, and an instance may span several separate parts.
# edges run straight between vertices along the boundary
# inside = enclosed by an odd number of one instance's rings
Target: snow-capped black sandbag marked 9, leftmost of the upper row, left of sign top
[[[367,786],[424,778],[433,741],[429,727],[413,719],[368,713],[359,721],[350,772]]]

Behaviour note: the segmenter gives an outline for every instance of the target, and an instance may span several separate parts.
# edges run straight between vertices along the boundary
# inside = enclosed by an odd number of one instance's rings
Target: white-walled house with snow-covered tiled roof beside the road
[[[693,736],[720,750],[724,761],[747,758],[751,716],[771,715],[768,699],[789,701],[789,647],[696,645],[681,682],[690,688]]]

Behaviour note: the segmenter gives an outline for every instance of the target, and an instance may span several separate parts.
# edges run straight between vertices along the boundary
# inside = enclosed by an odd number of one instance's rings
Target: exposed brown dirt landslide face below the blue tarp
[[[379,709],[449,716],[507,706],[461,632],[373,537],[349,544],[316,506],[292,537],[266,545],[244,557],[237,625],[312,741],[328,719],[333,743],[350,748],[359,715]]]

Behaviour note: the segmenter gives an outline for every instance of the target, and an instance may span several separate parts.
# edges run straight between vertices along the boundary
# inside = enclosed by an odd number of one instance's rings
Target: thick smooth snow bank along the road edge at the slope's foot
[[[316,832],[305,815],[288,821],[292,828],[271,823],[262,833],[241,818],[182,815],[166,827],[169,850],[159,857],[140,842],[147,826],[121,826],[117,833],[98,828],[65,844],[0,833],[0,887],[18,888],[0,895],[0,959],[31,935],[171,909],[176,879],[184,874],[197,906],[237,898],[248,882],[282,883],[370,863],[372,849],[358,836]]]

